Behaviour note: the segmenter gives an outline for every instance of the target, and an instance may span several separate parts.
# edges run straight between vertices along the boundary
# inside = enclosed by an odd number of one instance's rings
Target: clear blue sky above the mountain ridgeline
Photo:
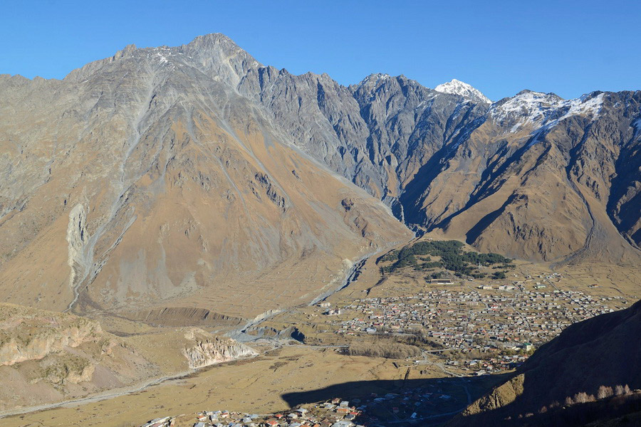
[[[63,78],[129,43],[225,33],[266,65],[357,83],[457,78],[493,100],[641,89],[641,1],[5,0],[0,73]]]

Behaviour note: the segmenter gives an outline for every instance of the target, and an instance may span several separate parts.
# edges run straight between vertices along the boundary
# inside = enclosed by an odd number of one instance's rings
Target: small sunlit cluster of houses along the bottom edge
[[[358,427],[361,413],[349,401],[333,399],[281,413],[202,411],[195,416],[156,418],[142,427]]]

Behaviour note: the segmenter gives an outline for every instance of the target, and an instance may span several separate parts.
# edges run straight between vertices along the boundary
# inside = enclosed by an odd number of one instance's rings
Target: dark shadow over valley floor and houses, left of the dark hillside
[[[401,371],[402,372],[402,371]],[[340,398],[363,408],[358,423],[395,426],[443,423],[506,379],[491,376],[350,381],[323,389],[283,394],[289,406]]]

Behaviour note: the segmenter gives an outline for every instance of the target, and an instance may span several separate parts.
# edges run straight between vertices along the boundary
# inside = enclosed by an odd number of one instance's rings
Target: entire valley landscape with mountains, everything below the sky
[[[218,33],[130,45],[63,80],[0,75],[0,183],[2,425],[140,426],[222,404],[276,413],[374,392],[417,399],[431,386],[452,408],[353,411],[405,426],[467,407],[450,422],[521,425],[617,385],[628,386],[618,399],[632,396],[617,408],[641,411],[639,90],[491,101],[459,80],[293,75]],[[504,295],[566,321],[546,322],[545,339],[503,339],[542,347],[470,384],[456,354],[511,354],[487,325],[469,352],[425,321],[381,337],[382,325],[345,326],[372,318],[350,312],[368,298],[371,310],[387,298],[409,307],[409,295],[437,305],[426,286],[478,298],[445,329],[462,341],[476,339],[471,313]],[[633,357],[620,365],[626,334]],[[390,337],[407,354],[387,352]],[[593,362],[599,375],[581,380]],[[555,378],[563,385],[548,388]],[[528,422],[553,425],[558,411]]]

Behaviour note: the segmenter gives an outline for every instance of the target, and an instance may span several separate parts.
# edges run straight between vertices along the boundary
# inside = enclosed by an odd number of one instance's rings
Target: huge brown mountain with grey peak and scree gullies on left
[[[254,317],[410,238],[236,90],[257,67],[207,36],[128,46],[64,80],[2,76],[4,300]]]

